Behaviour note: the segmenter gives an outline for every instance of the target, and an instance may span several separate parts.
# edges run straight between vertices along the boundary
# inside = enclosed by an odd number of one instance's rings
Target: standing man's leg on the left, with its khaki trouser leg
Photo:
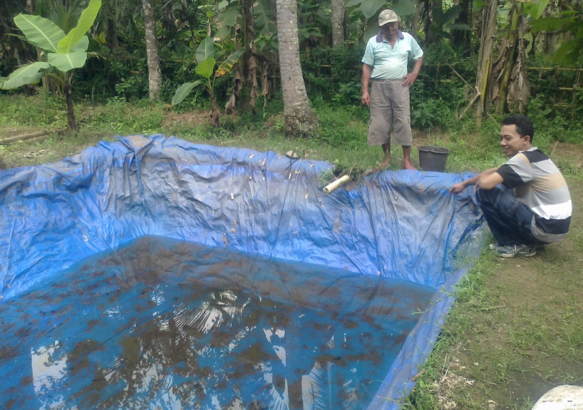
[[[385,95],[386,84],[372,81],[371,86],[371,124],[368,126],[368,145],[381,145],[384,159],[381,167],[391,164],[391,122],[393,110]]]

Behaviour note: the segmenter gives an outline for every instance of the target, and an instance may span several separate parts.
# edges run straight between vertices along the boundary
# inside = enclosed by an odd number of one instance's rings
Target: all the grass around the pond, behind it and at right
[[[264,112],[223,116],[222,128],[213,128],[207,125],[204,110],[176,112],[165,105],[116,99],[104,105],[81,101],[76,104],[80,132],[0,146],[0,162],[6,166],[51,162],[115,135],[154,132],[280,154],[294,149],[301,157],[333,162],[354,177],[381,160],[381,149],[366,145],[368,114],[362,107],[320,100],[316,112],[321,127],[312,140],[287,140],[279,110],[281,103],[275,101]],[[450,119],[448,124],[448,130],[415,130],[414,144],[448,147],[450,172],[478,171],[505,161],[497,147],[495,120],[488,119],[480,129],[469,119]],[[5,133],[65,125],[64,105],[50,96],[0,96],[0,129]],[[552,124],[544,125],[535,144],[554,152],[552,158],[572,191],[575,209],[569,237],[531,259],[500,260],[483,251],[458,285],[458,300],[403,408],[530,409],[554,385],[583,384],[583,147],[557,144],[560,135]],[[401,149],[393,147],[392,154],[391,169],[399,169]],[[412,154],[418,164],[417,150]]]

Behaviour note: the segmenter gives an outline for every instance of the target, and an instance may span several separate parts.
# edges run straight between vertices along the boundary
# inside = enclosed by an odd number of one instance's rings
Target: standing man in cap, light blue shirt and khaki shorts
[[[362,103],[371,107],[368,145],[382,145],[385,159],[381,167],[391,164],[391,125],[395,140],[403,145],[403,169],[411,164],[411,110],[409,88],[417,79],[423,64],[423,50],[411,34],[398,29],[398,16],[393,10],[378,15],[380,32],[368,40],[362,58]],[[409,58],[415,61],[407,73]],[[372,98],[368,83],[372,80]]]

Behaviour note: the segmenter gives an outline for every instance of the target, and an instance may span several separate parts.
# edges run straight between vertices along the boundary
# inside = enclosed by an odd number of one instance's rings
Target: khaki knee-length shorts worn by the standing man
[[[391,125],[397,144],[410,146],[411,110],[409,87],[403,80],[372,80],[371,125],[368,127],[368,145],[391,142]]]

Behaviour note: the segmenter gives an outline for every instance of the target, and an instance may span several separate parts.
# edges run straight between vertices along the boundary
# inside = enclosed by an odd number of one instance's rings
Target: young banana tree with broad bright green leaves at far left
[[[101,0],[91,0],[81,13],[77,26],[65,33],[53,21],[41,16],[19,14],[14,17],[14,23],[24,33],[26,39],[38,48],[47,51],[47,61],[37,61],[11,73],[8,78],[0,78],[0,90],[11,90],[25,84],[36,84],[44,75],[54,70],[62,75],[63,90],[67,104],[67,130],[77,129],[73,98],[71,95],[71,80],[73,69],[81,68],[87,61],[89,38],[86,33],[95,21]]]

